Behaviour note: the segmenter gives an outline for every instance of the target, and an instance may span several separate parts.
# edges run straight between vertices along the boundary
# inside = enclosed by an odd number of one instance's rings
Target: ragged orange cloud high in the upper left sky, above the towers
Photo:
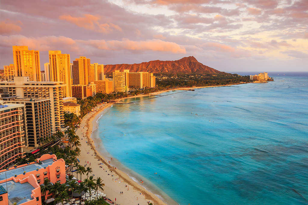
[[[111,33],[113,30],[122,31],[120,26],[114,25],[112,23],[100,24],[99,20],[101,17],[97,14],[95,16],[91,14],[83,14],[83,17],[72,17],[69,14],[64,14],[59,16],[60,20],[66,20],[67,22],[73,23],[76,26],[83,27],[89,30],[95,30],[100,33]]]

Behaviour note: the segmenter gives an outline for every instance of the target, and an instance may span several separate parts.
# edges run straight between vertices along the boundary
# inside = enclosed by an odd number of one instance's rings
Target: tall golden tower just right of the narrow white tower
[[[70,54],[61,54],[61,50],[49,51],[50,81],[64,82],[64,97],[71,97],[71,63]]]

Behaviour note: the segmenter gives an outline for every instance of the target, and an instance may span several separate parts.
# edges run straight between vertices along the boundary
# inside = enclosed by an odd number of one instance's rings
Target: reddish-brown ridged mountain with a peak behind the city
[[[225,74],[215,70],[209,66],[205,66],[198,62],[193,56],[184,57],[176,61],[149,61],[139,64],[116,64],[116,65],[104,65],[104,72],[111,73],[115,70],[129,70],[131,73],[135,72],[149,72],[149,73],[198,73],[198,74]]]

